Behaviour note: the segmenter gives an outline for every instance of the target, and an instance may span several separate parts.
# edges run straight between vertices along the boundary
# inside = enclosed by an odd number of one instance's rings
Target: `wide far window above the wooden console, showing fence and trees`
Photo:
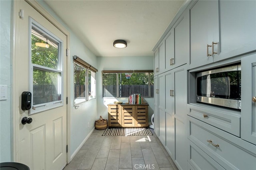
[[[126,73],[132,74],[126,77]],[[102,71],[103,97],[154,97],[153,70]]]

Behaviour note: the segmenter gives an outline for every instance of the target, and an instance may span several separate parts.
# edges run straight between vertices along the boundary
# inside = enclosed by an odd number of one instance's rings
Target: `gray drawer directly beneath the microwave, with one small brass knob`
[[[188,105],[188,108],[188,115],[238,137],[241,136],[240,112],[236,113],[238,111],[233,111],[234,114],[232,114],[224,109],[208,109],[197,105]]]

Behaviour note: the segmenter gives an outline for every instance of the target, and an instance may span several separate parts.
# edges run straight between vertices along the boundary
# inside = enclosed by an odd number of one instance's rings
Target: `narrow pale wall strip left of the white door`
[[[0,162],[11,158],[11,12],[12,1],[0,0],[0,85],[7,85],[7,100],[0,101]]]

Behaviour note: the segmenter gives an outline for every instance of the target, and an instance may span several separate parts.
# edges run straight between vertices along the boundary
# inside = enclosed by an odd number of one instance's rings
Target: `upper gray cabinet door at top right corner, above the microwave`
[[[256,50],[256,1],[219,1],[219,54],[214,61]]]

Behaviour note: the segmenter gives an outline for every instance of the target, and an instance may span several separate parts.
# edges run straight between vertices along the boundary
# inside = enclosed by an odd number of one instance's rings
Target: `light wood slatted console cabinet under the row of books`
[[[108,105],[108,127],[148,127],[148,104]]]

